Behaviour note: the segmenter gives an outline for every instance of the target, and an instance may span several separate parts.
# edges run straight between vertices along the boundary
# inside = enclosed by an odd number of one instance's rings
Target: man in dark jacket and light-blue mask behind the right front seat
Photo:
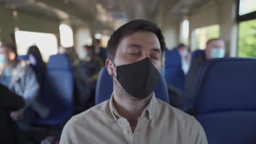
[[[190,114],[193,114],[193,102],[194,102],[194,86],[197,79],[197,74],[208,59],[224,58],[225,56],[225,44],[222,39],[210,39],[206,43],[205,53],[198,56],[194,63],[191,64],[187,73],[185,81],[186,94],[189,99],[188,110]]]

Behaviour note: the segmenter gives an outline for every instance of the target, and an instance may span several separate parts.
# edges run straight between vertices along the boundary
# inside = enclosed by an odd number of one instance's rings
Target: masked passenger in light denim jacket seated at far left
[[[4,43],[0,46],[0,83],[7,86],[12,92],[23,97],[25,107],[12,111],[10,117],[19,121],[23,131],[27,131],[35,112],[42,118],[49,113],[48,109],[36,100],[39,93],[39,84],[33,69],[25,61],[17,60],[17,50],[12,44]]]

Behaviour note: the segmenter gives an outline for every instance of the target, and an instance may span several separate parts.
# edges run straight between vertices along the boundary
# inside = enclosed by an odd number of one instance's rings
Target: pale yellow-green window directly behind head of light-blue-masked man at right
[[[205,49],[206,42],[209,39],[218,38],[220,36],[220,26],[212,25],[195,29],[196,49]]]

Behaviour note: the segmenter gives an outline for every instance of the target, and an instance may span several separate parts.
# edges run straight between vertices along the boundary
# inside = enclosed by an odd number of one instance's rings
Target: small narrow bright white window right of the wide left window
[[[74,46],[73,31],[70,26],[61,24],[59,25],[60,44],[63,47]]]

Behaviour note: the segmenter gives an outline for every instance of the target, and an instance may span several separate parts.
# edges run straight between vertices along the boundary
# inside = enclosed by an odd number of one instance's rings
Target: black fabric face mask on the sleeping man
[[[160,79],[158,70],[148,57],[139,62],[115,67],[117,76],[114,77],[135,98],[148,97]]]

